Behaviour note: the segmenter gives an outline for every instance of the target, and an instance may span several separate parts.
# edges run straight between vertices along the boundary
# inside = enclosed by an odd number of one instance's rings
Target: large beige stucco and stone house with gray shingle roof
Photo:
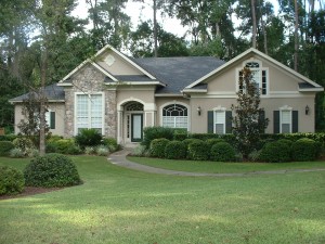
[[[47,120],[53,134],[68,138],[95,128],[121,144],[141,141],[143,128],[151,126],[227,133],[244,67],[260,89],[260,106],[270,119],[265,132],[314,132],[314,99],[323,87],[256,49],[223,62],[211,56],[133,59],[106,46],[47,87]],[[11,100],[15,125],[24,119],[26,97]]]

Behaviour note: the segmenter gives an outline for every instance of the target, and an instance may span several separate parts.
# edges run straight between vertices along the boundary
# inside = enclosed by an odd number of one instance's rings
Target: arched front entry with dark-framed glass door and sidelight
[[[143,139],[143,104],[136,101],[128,102],[125,110],[125,139],[126,142],[140,142]]]

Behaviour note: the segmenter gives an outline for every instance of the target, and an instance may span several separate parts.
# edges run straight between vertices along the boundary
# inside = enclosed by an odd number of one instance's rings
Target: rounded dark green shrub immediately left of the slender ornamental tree
[[[219,142],[212,145],[210,158],[217,162],[232,162],[236,159],[236,152],[230,143]]]

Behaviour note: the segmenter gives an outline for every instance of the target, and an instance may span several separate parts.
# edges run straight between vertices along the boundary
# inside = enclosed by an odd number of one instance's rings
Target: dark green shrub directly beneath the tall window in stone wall
[[[96,146],[102,143],[103,136],[96,129],[82,129],[75,138],[76,143],[84,149],[86,146]]]

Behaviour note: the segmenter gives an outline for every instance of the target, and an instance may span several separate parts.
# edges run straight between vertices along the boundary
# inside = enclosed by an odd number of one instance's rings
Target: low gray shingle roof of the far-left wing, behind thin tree
[[[34,92],[35,93],[35,92]],[[58,87],[57,84],[52,84],[50,86],[47,86],[44,88],[44,93],[49,102],[57,102],[57,101],[64,101],[64,88]],[[24,100],[28,99],[30,92],[22,94],[20,97],[16,97],[14,99],[11,99],[10,102],[23,102]],[[36,94],[36,93],[35,93]]]

